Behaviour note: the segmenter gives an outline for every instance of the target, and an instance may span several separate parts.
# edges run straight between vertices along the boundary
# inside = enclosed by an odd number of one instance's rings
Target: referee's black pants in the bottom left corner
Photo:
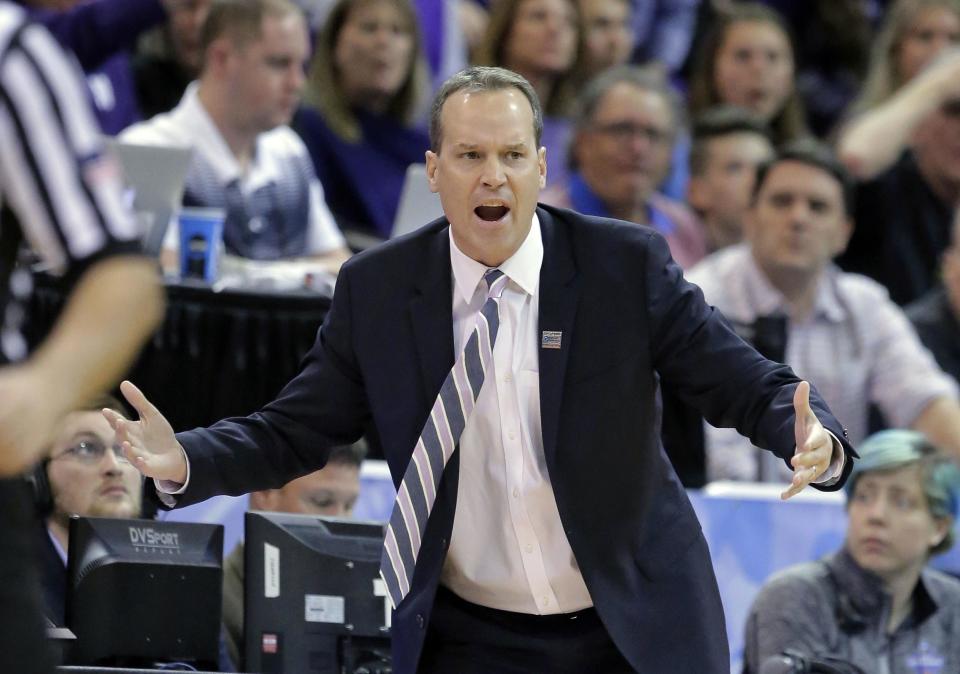
[[[36,571],[40,526],[27,483],[0,479],[0,672],[49,674]]]

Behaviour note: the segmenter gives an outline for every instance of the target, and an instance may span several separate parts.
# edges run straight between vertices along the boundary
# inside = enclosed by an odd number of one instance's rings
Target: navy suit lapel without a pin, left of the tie
[[[453,282],[446,227],[433,232],[428,247],[409,305],[427,411],[454,361]]]

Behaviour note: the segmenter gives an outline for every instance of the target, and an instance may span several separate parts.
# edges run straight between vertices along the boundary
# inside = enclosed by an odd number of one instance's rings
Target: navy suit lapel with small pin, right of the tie
[[[540,421],[547,465],[553,463],[560,424],[563,381],[570,359],[574,317],[580,285],[567,228],[544,209],[537,209],[543,237],[543,265],[540,269],[540,334],[537,344],[540,361]],[[560,333],[560,348],[543,348],[545,332]]]

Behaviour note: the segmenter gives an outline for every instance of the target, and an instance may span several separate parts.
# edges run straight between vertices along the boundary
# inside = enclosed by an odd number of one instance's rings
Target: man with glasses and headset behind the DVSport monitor
[[[140,517],[143,481],[119,447],[100,410],[126,416],[115,398],[101,396],[64,417],[48,457],[33,477],[46,530],[40,572],[47,617],[64,624],[70,517]]]

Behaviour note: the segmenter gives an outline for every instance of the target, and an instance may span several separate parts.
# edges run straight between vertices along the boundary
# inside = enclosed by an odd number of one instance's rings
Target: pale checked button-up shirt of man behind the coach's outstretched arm
[[[739,244],[707,257],[687,280],[731,321],[788,315],[783,295]],[[869,434],[874,404],[893,428],[910,427],[931,402],[957,397],[957,385],[920,343],[886,289],[859,274],[827,268],[812,315],[789,321],[784,362],[810,381],[856,445]],[[781,482],[793,472],[770,452],[751,450],[734,429],[706,426],[709,480]]]

